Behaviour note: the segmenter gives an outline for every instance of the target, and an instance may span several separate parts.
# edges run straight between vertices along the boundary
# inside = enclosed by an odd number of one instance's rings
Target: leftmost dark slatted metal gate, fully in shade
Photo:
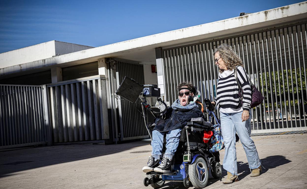
[[[51,144],[45,89],[0,85],[0,149]]]

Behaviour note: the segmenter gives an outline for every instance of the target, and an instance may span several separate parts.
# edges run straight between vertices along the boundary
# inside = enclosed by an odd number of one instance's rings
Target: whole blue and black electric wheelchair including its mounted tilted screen
[[[136,93],[136,95],[133,96],[133,93]],[[125,77],[116,94],[132,103],[140,98],[146,129],[150,138],[152,138],[155,124],[147,123],[147,110],[153,115],[161,115],[166,111],[166,104],[160,98],[160,89],[157,88],[157,85],[139,85],[136,81]],[[138,98],[135,99],[135,96],[138,96]],[[157,103],[164,104],[165,109],[155,112],[147,103],[146,97],[156,97]],[[211,122],[201,119],[192,119],[181,130],[179,146],[171,165],[172,171],[169,173],[147,172],[143,180],[145,186],[150,185],[153,188],[160,188],[166,181],[175,181],[183,182],[185,187],[192,185],[195,188],[204,188],[208,183],[209,169],[214,178],[220,178],[222,174],[221,164],[219,163],[220,154],[219,152],[210,153],[210,141],[208,143],[203,142],[204,130],[209,131],[214,128]],[[165,144],[164,137],[163,153],[165,152]]]

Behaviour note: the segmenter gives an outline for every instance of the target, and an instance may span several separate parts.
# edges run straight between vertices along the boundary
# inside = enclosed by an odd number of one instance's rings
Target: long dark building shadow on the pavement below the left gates
[[[117,145],[61,145],[3,151],[0,152],[0,178],[18,174],[20,171],[105,156],[148,144],[150,140]],[[131,153],[143,152],[135,151]]]

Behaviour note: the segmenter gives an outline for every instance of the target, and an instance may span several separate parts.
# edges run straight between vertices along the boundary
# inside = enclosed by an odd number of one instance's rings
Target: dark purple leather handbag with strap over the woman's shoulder
[[[240,103],[241,105],[243,104],[243,90],[241,88],[241,85],[238,82],[238,78],[237,78],[237,67],[235,67],[234,70],[234,74],[235,74],[235,80],[238,83],[239,86],[239,97],[240,97]],[[262,94],[260,93],[260,91],[256,88],[256,86],[253,84],[253,82],[251,82],[251,79],[247,76],[248,81],[251,85],[251,108],[254,108],[256,106],[258,106],[259,104],[262,103],[264,97],[262,96]]]

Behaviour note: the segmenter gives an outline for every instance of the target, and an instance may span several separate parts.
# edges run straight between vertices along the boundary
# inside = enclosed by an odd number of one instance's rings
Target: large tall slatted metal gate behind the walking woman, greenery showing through
[[[182,81],[197,86],[201,100],[214,100],[218,68],[212,53],[221,43],[227,43],[241,57],[251,81],[265,97],[253,108],[252,133],[305,130],[306,37],[306,23],[302,23],[162,49],[166,101],[173,103],[177,98],[175,89]]]

